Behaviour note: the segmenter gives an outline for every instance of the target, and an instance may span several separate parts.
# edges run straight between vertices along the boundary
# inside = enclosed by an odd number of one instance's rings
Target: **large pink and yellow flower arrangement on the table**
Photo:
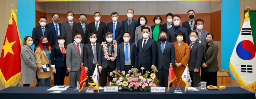
[[[141,70],[144,70],[144,67],[140,68]],[[137,68],[132,68],[131,70],[126,73],[125,71],[122,71],[120,74],[117,71],[110,72],[110,76],[114,77],[113,80],[109,83],[109,86],[117,86],[118,89],[121,90],[122,88],[128,89],[132,91],[133,89],[139,89],[140,91],[146,91],[150,90],[150,87],[156,87],[156,84],[159,82],[158,79],[156,79],[155,74],[150,72],[158,72],[156,67],[153,68],[152,71],[146,71],[144,75],[142,73],[138,73],[135,75],[135,72],[138,71]],[[132,72],[132,75],[130,75]],[[116,78],[115,75],[117,74],[120,76],[119,78]],[[150,74],[150,77],[148,75]]]

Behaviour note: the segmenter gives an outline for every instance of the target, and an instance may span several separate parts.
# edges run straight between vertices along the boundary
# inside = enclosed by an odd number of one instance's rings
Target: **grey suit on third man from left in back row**
[[[74,24],[76,24],[75,21],[73,22],[73,26],[74,26]],[[70,43],[73,42],[73,34],[72,34],[72,31],[71,31],[71,28],[70,28],[69,21],[66,21],[66,22],[62,23],[61,34],[65,36],[65,38],[66,38],[65,41],[66,41],[67,44],[70,44]]]

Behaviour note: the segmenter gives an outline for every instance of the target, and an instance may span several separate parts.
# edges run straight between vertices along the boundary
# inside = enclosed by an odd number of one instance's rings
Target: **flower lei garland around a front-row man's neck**
[[[107,60],[116,59],[116,57],[117,57],[117,43],[113,43],[113,46],[114,46],[114,57],[108,56],[108,48],[107,48],[106,42],[102,42],[101,45],[103,46],[103,51],[104,51],[104,55],[105,55],[104,57]]]

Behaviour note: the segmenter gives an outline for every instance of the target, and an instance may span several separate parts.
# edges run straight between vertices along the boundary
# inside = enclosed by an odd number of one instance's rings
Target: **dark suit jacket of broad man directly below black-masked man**
[[[190,39],[188,37],[187,29],[185,27],[180,26],[180,31],[185,32],[185,37],[183,37],[183,42],[188,43]],[[175,37],[174,27],[171,27],[167,30],[167,41],[174,43],[177,41]]]

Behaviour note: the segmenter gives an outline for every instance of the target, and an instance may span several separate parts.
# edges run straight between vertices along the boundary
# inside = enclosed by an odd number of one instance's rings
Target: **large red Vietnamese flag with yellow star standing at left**
[[[17,83],[22,82],[21,48],[17,17],[12,10],[0,57],[0,78],[5,87],[16,86]]]

